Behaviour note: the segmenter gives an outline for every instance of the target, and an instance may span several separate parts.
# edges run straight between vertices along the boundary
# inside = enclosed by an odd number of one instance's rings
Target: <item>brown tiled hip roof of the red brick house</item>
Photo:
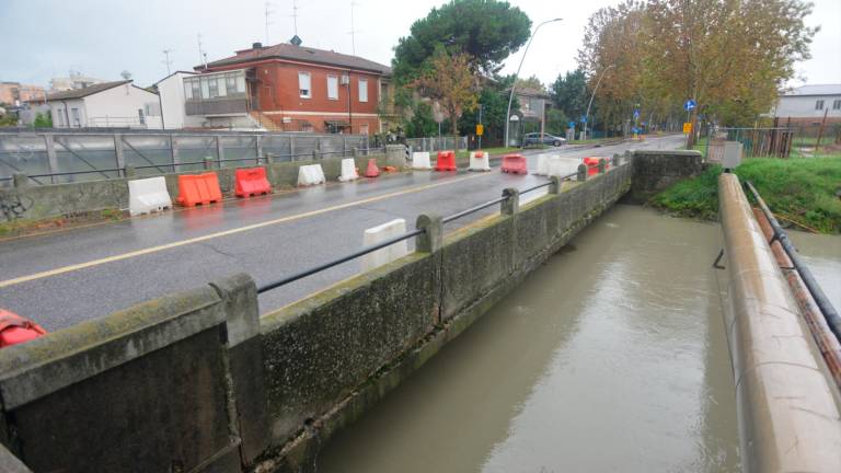
[[[310,62],[325,66],[338,66],[348,69],[359,69],[377,72],[383,76],[391,76],[391,68],[379,62],[349,56],[341,53],[315,49],[306,46],[295,46],[289,43],[281,43],[274,46],[261,48],[251,48],[237,51],[235,56],[219,59],[207,65],[208,68],[219,66],[230,66],[241,62],[251,62],[262,59],[286,59],[301,62]],[[204,66],[197,66],[196,70],[204,69]]]

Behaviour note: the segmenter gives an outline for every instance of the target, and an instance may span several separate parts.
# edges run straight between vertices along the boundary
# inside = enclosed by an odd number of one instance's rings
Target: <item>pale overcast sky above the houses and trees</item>
[[[352,54],[350,0],[298,0],[298,35],[303,44]],[[354,0],[356,54],[390,65],[398,38],[412,23],[442,1]],[[522,77],[544,83],[575,69],[575,56],[587,19],[618,0],[514,0],[534,24],[543,26],[531,45]],[[841,83],[841,0],[817,0],[810,25],[823,25],[813,44],[813,59],[797,65],[808,83]],[[288,42],[295,34],[292,0],[269,1],[268,42]],[[198,34],[209,60],[266,43],[264,0],[0,0],[3,24],[0,80],[48,85],[69,70],[118,80],[131,72],[139,85],[166,74],[164,49],[172,49],[172,69],[199,64]],[[522,49],[508,58],[514,72]],[[800,84],[797,80],[793,84]]]

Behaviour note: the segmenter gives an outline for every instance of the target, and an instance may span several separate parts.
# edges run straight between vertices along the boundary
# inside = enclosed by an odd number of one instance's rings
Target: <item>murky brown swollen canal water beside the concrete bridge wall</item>
[[[837,302],[839,239],[793,240]],[[719,244],[714,223],[617,206],[331,440],[318,471],[738,471]]]

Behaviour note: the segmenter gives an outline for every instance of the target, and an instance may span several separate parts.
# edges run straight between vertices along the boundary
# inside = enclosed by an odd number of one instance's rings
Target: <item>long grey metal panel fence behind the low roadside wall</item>
[[[11,186],[13,174],[37,184],[59,184],[120,177],[126,166],[139,176],[258,164],[261,159],[297,161],[362,154],[370,148],[365,135],[290,132],[1,132],[0,186]]]

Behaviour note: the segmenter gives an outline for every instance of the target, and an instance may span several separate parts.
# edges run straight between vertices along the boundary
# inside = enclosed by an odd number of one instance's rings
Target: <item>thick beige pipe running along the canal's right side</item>
[[[841,471],[838,391],[739,180],[718,180],[742,471]]]

